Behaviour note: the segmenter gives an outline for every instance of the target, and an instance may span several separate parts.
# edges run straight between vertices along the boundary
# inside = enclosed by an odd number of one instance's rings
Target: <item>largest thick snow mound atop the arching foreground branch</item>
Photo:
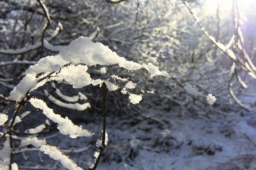
[[[36,90],[36,88],[43,86],[50,80],[66,80],[69,84],[72,84],[73,88],[82,88],[89,84],[93,84],[93,86],[100,85],[104,80],[93,80],[90,74],[86,72],[88,66],[92,65],[118,65],[127,70],[147,70],[152,76],[169,76],[166,71],[159,71],[158,67],[152,65],[152,63],[141,65],[133,61],[127,61],[125,58],[119,57],[117,53],[112,52],[108,46],[80,36],[67,47],[61,49],[58,55],[44,57],[36,65],[30,66],[26,71],[26,76],[11,91],[9,100],[20,101],[26,96],[27,92]],[[104,73],[104,70],[102,70],[102,73]],[[114,84],[110,84],[108,80],[105,80],[105,83],[109,85],[109,90],[110,87],[112,90],[118,89],[118,87],[113,86]],[[139,98],[137,97],[137,99]]]

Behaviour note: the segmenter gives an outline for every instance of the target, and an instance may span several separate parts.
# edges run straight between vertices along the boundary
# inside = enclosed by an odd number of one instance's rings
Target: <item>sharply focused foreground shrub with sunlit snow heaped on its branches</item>
[[[68,156],[66,156],[60,148],[57,146],[52,146],[47,143],[45,139],[38,139],[35,134],[42,133],[46,126],[49,124],[48,120],[45,125],[39,125],[32,129],[25,130],[26,137],[22,137],[19,146],[14,146],[13,140],[13,127],[23,121],[23,118],[28,116],[29,113],[23,113],[21,116],[18,115],[19,111],[24,107],[25,104],[30,103],[34,108],[42,110],[43,114],[51,121],[55,122],[57,129],[63,135],[69,135],[71,138],[77,137],[90,137],[94,135],[81,126],[73,124],[68,117],[61,117],[60,114],[54,113],[53,109],[49,108],[46,102],[42,99],[38,99],[32,96],[33,92],[39,87],[44,86],[47,82],[57,82],[57,83],[68,83],[73,88],[83,88],[89,85],[100,86],[103,95],[103,108],[104,114],[107,112],[107,94],[109,91],[121,91],[123,95],[129,95],[129,100],[131,104],[138,104],[143,97],[143,94],[154,93],[153,90],[144,90],[138,87],[136,83],[127,78],[121,78],[118,74],[108,73],[108,67],[118,66],[127,71],[136,70],[147,71],[148,76],[164,76],[166,79],[172,79],[171,76],[166,71],[160,71],[158,67],[152,65],[152,63],[139,64],[133,61],[127,61],[123,57],[119,57],[115,52],[112,52],[107,46],[99,42],[92,42],[92,40],[87,37],[79,37],[78,39],[71,42],[70,45],[60,50],[60,53],[56,56],[47,56],[38,61],[33,66],[30,66],[26,71],[26,76],[19,82],[19,84],[10,92],[10,96],[6,98],[7,101],[13,101],[16,103],[16,111],[13,118],[7,121],[7,115],[1,113],[2,122],[1,125],[6,125],[6,130],[2,132],[2,136],[6,137],[7,140],[3,145],[1,150],[1,165],[2,169],[8,169],[10,165],[16,166],[13,163],[14,150],[18,152],[21,148],[28,145],[32,145],[39,148],[44,154],[49,155],[55,160],[59,160],[63,167],[68,169],[82,169],[75,162],[73,162]],[[102,76],[100,78],[92,78],[92,70],[100,70]],[[179,83],[179,82],[178,82]],[[179,83],[181,87],[187,91],[188,94],[194,96],[203,96],[202,92],[198,92],[196,88],[193,88],[191,84],[185,83],[183,86]],[[135,89],[138,89],[135,91]],[[84,94],[79,94],[77,96],[68,97],[61,94],[60,90],[56,90],[56,93],[61,96],[65,101],[70,104],[64,103],[63,101],[55,99],[47,91],[44,91],[46,96],[50,101],[64,108],[71,108],[77,111],[84,111],[90,108],[90,103],[86,101],[87,97]],[[3,96],[2,96],[3,97]],[[3,97],[5,98],[5,97]],[[83,104],[72,103],[79,100],[84,100]],[[215,100],[214,96],[208,95],[208,103],[212,104]],[[104,117],[104,128],[102,130],[102,138],[98,139],[96,146],[99,151],[95,152],[95,167],[97,167],[98,161],[104,151],[106,145],[108,145],[108,134],[106,133],[106,117]],[[9,134],[9,137],[8,135]],[[167,137],[168,138],[168,137]],[[168,138],[169,139],[169,138]],[[167,143],[165,137],[164,139],[159,139],[160,145],[166,145]],[[136,148],[134,148],[136,150]],[[135,151],[134,150],[134,151]],[[131,151],[130,157],[134,158],[135,152]],[[90,166],[93,168],[94,164]]]

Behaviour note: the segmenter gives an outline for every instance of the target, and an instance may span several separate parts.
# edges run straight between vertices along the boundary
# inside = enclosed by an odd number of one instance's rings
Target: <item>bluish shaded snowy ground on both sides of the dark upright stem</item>
[[[136,121],[121,113],[108,117],[109,142],[97,169],[256,169],[254,113],[239,111],[207,118],[174,114],[174,111],[150,112],[162,124],[150,118]],[[56,133],[47,141],[60,146],[80,167],[87,169],[93,163],[93,152],[97,151],[101,118],[82,126],[94,131],[96,136],[71,139]],[[19,160],[28,155],[30,152],[24,152]],[[19,169],[44,165],[49,169],[65,169],[40,152],[27,157],[24,164]]]

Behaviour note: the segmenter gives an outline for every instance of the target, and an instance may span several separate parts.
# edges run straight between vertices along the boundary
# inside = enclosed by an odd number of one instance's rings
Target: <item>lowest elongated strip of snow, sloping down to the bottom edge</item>
[[[39,140],[37,137],[23,139],[20,143],[20,146],[33,145],[39,147],[40,151],[44,154],[49,155],[54,160],[59,160],[60,163],[67,169],[79,169],[82,170],[73,160],[68,158],[67,155],[64,155],[56,146],[47,145],[47,142],[44,140]]]

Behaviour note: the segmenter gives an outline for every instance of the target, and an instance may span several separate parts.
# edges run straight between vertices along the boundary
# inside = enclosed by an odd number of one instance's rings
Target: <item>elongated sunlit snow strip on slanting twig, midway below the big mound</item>
[[[61,134],[69,134],[69,137],[71,138],[90,137],[93,135],[93,133],[91,133],[90,131],[82,129],[81,127],[73,124],[73,122],[67,117],[63,118],[59,114],[55,114],[52,109],[47,107],[46,103],[43,100],[31,98],[30,103],[35,108],[41,109],[49,119],[57,123],[57,129],[59,129]]]

